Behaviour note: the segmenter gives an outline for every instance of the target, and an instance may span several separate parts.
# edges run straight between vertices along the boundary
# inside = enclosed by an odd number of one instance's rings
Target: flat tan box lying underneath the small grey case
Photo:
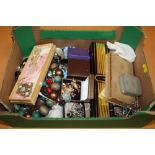
[[[132,104],[135,97],[127,96],[121,93],[119,85],[119,77],[128,73],[133,75],[133,64],[122,59],[114,53],[106,55],[106,95],[109,100],[116,100],[121,104]]]

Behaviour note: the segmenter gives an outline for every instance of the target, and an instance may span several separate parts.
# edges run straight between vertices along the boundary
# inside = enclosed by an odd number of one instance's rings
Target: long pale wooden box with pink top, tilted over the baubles
[[[10,102],[35,104],[55,50],[55,45],[51,43],[34,46],[11,92]]]

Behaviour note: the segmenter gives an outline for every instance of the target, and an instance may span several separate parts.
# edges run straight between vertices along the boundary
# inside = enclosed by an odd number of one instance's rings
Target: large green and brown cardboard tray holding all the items
[[[132,34],[132,35],[131,35]],[[9,111],[0,112],[0,120],[6,122],[13,127],[54,127],[54,128],[103,128],[103,127],[142,127],[146,123],[155,119],[155,114],[150,112],[149,106],[155,99],[155,92],[152,88],[152,82],[149,70],[143,69],[147,66],[145,55],[143,52],[144,32],[139,27],[119,27],[117,30],[111,31],[80,31],[80,30],[44,30],[40,27],[15,27],[13,29],[13,48],[11,56],[7,63],[7,69],[4,75],[2,88],[0,89],[0,101],[7,107]],[[142,83],[143,95],[139,98],[143,109],[137,112],[131,118],[101,118],[95,117],[97,113],[97,100],[91,104],[94,106],[90,118],[63,118],[63,119],[27,119],[11,112],[11,106],[8,97],[15,84],[14,73],[16,67],[21,62],[22,57],[30,54],[34,45],[44,43],[54,43],[57,47],[75,46],[82,49],[88,49],[90,44],[94,42],[120,41],[127,43],[136,51],[136,60],[134,62],[134,74],[140,78]],[[94,61],[91,63],[93,66]],[[9,81],[9,82],[8,82]],[[96,88],[94,88],[96,89]],[[95,91],[95,96],[98,95]],[[152,105],[152,104],[151,104]]]

